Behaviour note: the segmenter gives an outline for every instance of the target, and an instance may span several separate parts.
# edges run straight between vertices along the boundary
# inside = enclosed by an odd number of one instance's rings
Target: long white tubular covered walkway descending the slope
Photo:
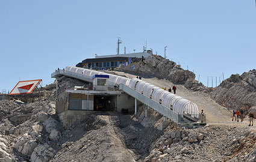
[[[178,124],[182,122],[198,123],[201,118],[198,106],[195,103],[137,78],[128,79],[101,71],[71,66],[67,66],[66,70],[58,70],[52,73],[52,77],[63,75],[86,82],[92,82],[92,77],[95,75],[108,75],[108,85],[119,85],[120,89],[126,92],[126,94],[147,104],[152,109],[157,110],[157,112]],[[94,92],[97,93],[97,91]],[[205,125],[205,122],[202,125]]]

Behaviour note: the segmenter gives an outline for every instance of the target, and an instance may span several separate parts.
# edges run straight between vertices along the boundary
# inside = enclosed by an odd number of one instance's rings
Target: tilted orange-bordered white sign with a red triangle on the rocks
[[[13,90],[11,90],[9,95],[31,94],[41,81],[42,79],[20,81]]]

